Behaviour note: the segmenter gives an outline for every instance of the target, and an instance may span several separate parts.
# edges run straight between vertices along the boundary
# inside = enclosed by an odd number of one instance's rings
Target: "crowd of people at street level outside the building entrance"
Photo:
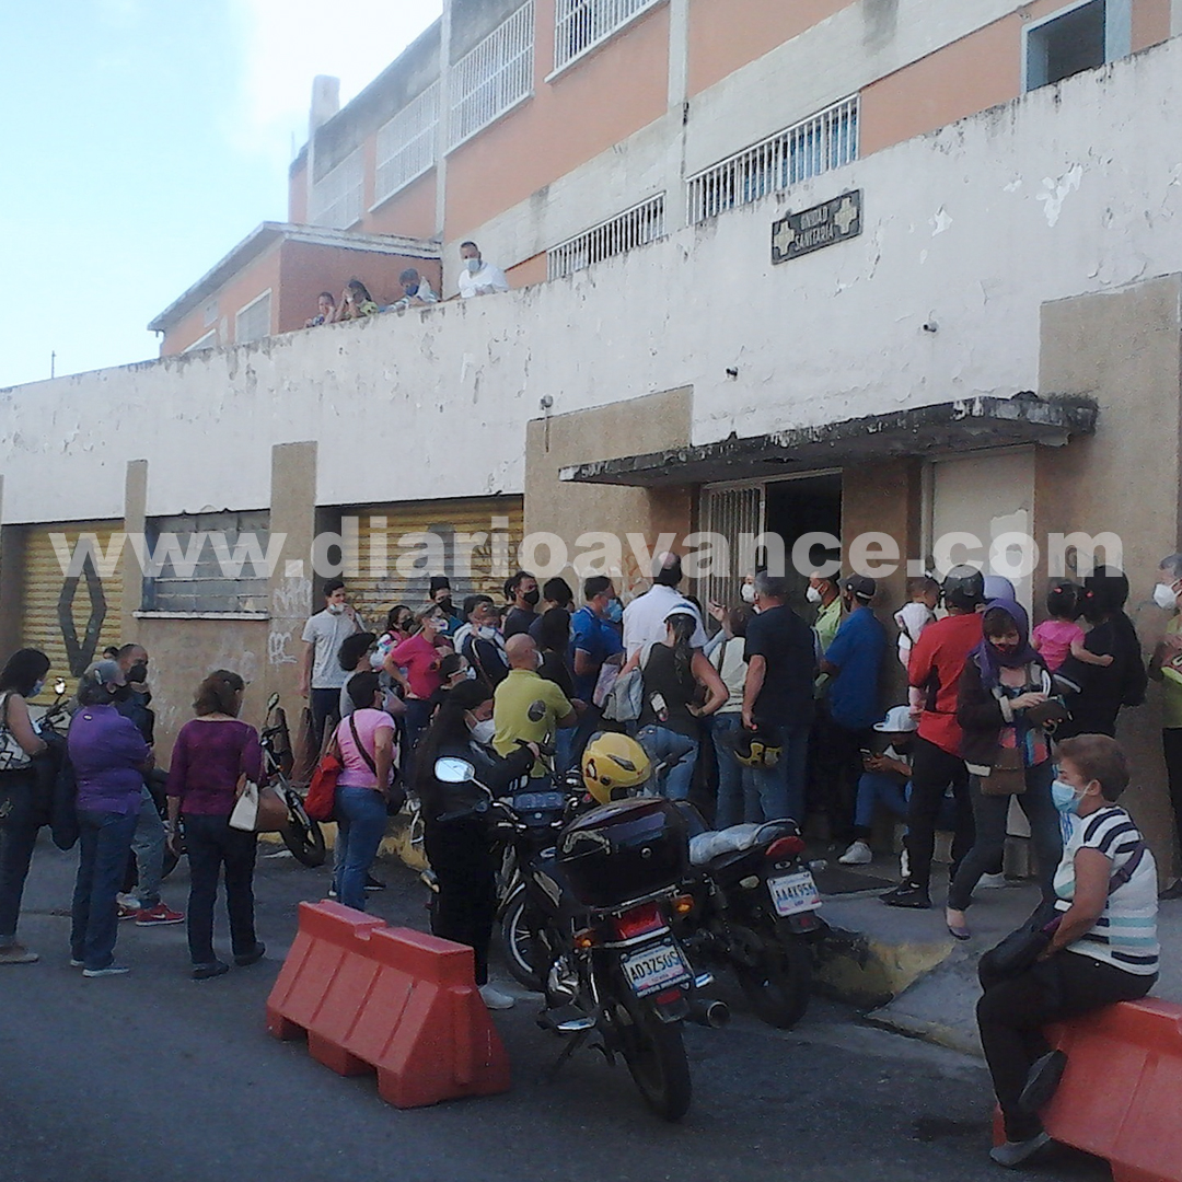
[[[1143,701],[1147,677],[1162,681],[1182,826],[1182,556],[1158,573],[1155,602],[1174,616],[1148,670],[1125,613],[1128,579],[1111,570],[1082,586],[1056,583],[1033,630],[1004,579],[972,567],[942,583],[913,579],[894,613],[894,647],[865,576],[814,573],[812,621],[790,604],[787,580],[767,571],[745,578],[739,602],[704,610],[682,582],[680,558],[667,553],[626,606],[606,576],[585,579],[576,605],[566,580],[539,585],[528,571],[505,583],[500,604],[475,593],[457,605],[448,578],[435,576],[427,602],[395,605],[381,630],[365,628],[342,580],[326,583],[323,610],[303,632],[300,689],[312,748],[340,765],[332,894],[365,909],[366,892],[382,885],[371,866],[388,817],[415,793],[439,885],[434,930],[474,949],[481,994],[504,1008],[513,999],[488,981],[493,845],[469,787],[436,779],[442,756],[472,762],[495,792],[582,766],[597,735],[623,732],[651,768],[650,791],[694,800],[717,827],[792,817],[811,839],[844,846],[846,865],[873,858],[876,834],[889,836],[885,814],[907,826],[902,881],[883,896],[897,908],[931,907],[935,834],[950,830],[943,918],[961,941],[972,939],[974,891],[1002,869],[1017,799],[1058,921],[1035,963],[982,976],[982,1043],[1007,1132],[994,1152],[1019,1164],[1045,1143],[1038,1105],[1061,1072],[1041,1027],[1142,996],[1156,979],[1157,870],[1118,804],[1129,772],[1113,735],[1119,712]],[[713,637],[708,617],[719,625]],[[885,707],[879,686],[892,651],[908,700]],[[57,740],[27,707],[48,665],[26,649],[0,673],[0,963],[37,959],[17,941],[17,918],[48,816],[38,767]],[[264,954],[255,837],[229,824],[243,782],[264,774],[259,735],[239,720],[242,678],[206,677],[163,777],[161,825],[147,678],[148,654],[126,645],[78,687],[65,740],[79,829],[71,962],[86,976],[125,973],[115,961],[121,917],[186,920],[160,902],[157,864],[183,826],[191,974],[204,980],[229,968],[213,946],[220,876],[234,963]],[[1180,896],[1178,882],[1162,892]]]

